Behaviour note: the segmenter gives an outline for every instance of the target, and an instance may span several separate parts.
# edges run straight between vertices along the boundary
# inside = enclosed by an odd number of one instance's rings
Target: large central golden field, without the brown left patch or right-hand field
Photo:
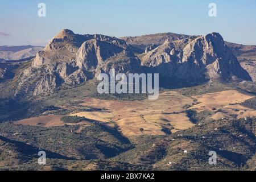
[[[95,107],[104,111],[81,112],[78,115],[102,122],[114,121],[126,137],[135,135],[165,135],[163,125],[170,123],[175,127],[172,132],[187,129],[193,124],[180,113],[184,105],[191,105],[193,99],[177,92],[164,92],[158,100],[105,101],[86,98],[81,105]],[[107,111],[107,112],[106,112]],[[179,114],[168,114],[168,113]],[[141,131],[140,129],[143,129]]]

